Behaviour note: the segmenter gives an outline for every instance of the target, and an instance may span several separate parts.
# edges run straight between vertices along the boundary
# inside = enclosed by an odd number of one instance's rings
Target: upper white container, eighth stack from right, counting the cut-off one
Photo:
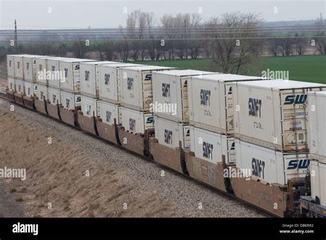
[[[80,93],[80,63],[97,60],[91,59],[65,59],[59,63],[60,72],[64,72],[61,79],[61,90]]]

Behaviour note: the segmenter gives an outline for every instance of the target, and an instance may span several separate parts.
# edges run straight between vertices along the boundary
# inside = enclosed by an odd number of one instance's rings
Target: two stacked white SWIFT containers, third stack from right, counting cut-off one
[[[191,151],[210,163],[235,164],[232,82],[267,80],[237,74],[188,77]]]

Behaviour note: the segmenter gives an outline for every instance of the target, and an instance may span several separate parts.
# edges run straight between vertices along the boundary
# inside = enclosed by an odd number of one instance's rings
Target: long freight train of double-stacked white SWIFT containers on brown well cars
[[[274,216],[326,216],[323,84],[91,59],[7,59],[14,103]]]

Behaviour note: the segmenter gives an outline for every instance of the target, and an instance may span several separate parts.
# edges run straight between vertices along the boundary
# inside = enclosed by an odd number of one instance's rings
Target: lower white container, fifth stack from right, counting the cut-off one
[[[122,107],[121,119],[122,127],[129,132],[144,134],[145,130],[154,128],[153,113]]]

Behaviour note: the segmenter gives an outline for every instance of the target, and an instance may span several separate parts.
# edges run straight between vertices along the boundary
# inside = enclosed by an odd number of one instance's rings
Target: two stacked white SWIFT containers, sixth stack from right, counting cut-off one
[[[114,119],[116,123],[122,123],[121,110],[121,86],[120,86],[120,68],[138,67],[140,64],[132,63],[112,63],[99,66],[99,117],[103,123],[113,125]]]

